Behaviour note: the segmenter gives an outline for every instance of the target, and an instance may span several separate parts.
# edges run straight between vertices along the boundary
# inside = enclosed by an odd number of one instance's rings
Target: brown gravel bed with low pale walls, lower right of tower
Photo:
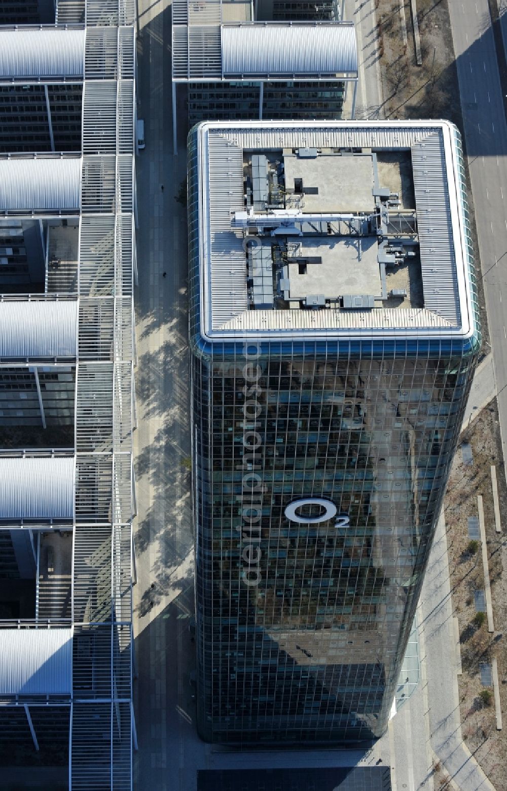
[[[464,461],[469,458],[471,463]],[[470,427],[461,435],[461,445],[453,460],[449,485],[445,495],[445,524],[451,569],[453,613],[457,615],[460,632],[462,675],[458,676],[460,713],[463,737],[470,751],[494,784],[497,791],[507,789],[507,740],[504,731],[497,731],[493,687],[483,687],[482,665],[498,660],[501,711],[507,716],[507,657],[505,630],[507,627],[507,577],[503,573],[507,563],[507,542],[504,532],[495,532],[491,464],[497,467],[498,494],[501,517],[507,515],[507,490],[501,455],[500,426],[496,399],[483,409]],[[471,543],[468,518],[478,517],[477,495],[483,497],[486,547],[493,602],[494,633],[477,623],[476,593],[484,591],[483,560],[480,539]],[[472,527],[473,530],[473,527]],[[480,617],[480,616],[479,616]],[[485,690],[490,691],[490,696]],[[483,698],[481,697],[483,695]],[[490,700],[487,698],[490,697]]]

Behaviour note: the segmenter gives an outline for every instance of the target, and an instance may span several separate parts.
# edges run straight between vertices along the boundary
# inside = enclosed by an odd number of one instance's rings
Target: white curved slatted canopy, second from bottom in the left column
[[[73,456],[0,458],[0,519],[72,519]]]

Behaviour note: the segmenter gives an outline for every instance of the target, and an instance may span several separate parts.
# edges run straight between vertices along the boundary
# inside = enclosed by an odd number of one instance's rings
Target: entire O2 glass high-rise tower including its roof
[[[197,715],[385,730],[479,352],[445,122],[189,138]]]

